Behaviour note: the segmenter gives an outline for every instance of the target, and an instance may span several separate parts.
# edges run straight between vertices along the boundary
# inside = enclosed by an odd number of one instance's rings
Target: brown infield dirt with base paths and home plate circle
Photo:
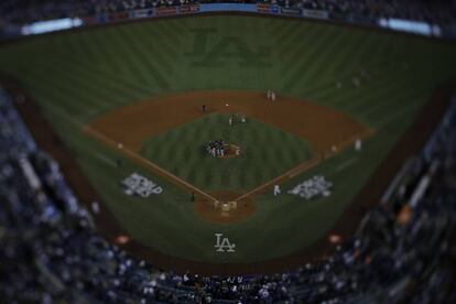
[[[237,197],[231,197],[230,194],[230,200],[239,203],[242,207],[231,209],[229,216],[226,216],[227,213],[214,207],[215,203],[228,202],[225,199],[226,195],[222,195],[224,199],[220,200],[217,195],[195,187],[160,167],[153,160],[145,160],[140,155],[141,146],[148,139],[211,113],[253,118],[293,133],[311,142],[314,158],[245,194]],[[371,129],[348,115],[297,98],[279,96],[272,101],[261,91],[218,90],[167,95],[124,106],[97,118],[86,127],[86,131],[154,173],[195,193],[198,197],[195,204],[196,213],[204,219],[218,224],[245,220],[254,213],[256,195],[310,170],[322,160],[350,146],[355,140],[372,133]],[[218,194],[226,193],[224,191],[219,189]]]

